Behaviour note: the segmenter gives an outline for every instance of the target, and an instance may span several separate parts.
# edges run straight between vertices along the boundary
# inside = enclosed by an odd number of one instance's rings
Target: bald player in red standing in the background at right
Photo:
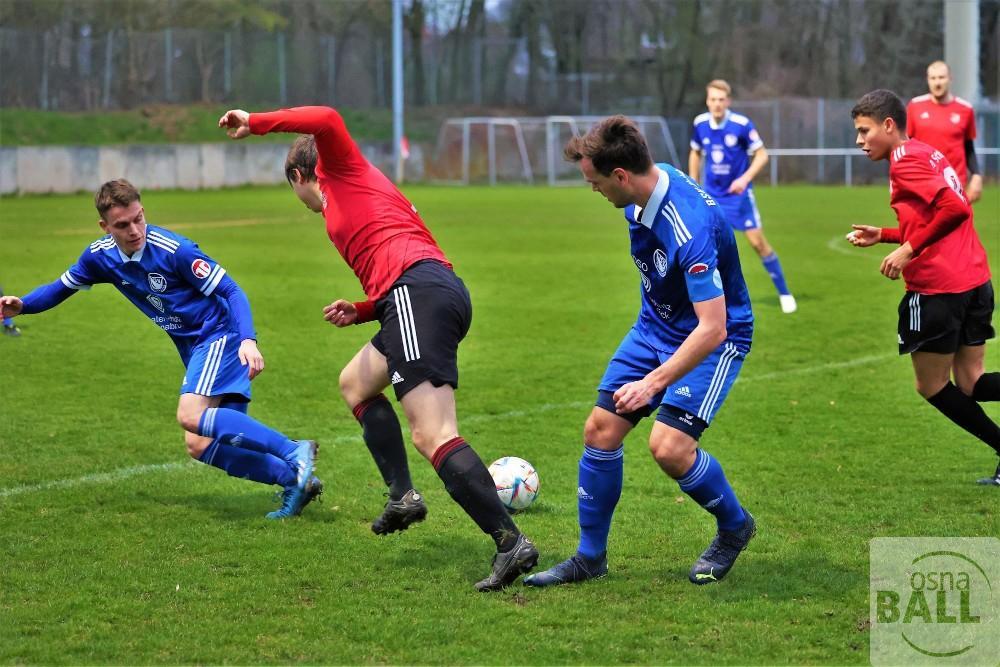
[[[906,107],[907,134],[944,153],[959,181],[967,184],[969,201],[978,201],[983,194],[983,177],[972,143],[976,138],[972,105],[951,94],[951,71],[941,60],[927,66],[927,88],[929,93],[914,97]]]

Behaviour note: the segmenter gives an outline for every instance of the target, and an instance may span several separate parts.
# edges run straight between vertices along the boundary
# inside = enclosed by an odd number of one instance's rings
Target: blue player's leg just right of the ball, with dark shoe
[[[649,414],[614,411],[610,391],[601,391],[583,429],[583,456],[577,472],[577,518],[580,542],[576,553],[542,572],[525,577],[528,586],[555,586],[603,577],[608,573],[608,533],[622,493],[625,448],[622,442]]]

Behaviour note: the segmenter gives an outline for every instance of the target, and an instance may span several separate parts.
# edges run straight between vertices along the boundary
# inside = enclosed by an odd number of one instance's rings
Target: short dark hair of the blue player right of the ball
[[[644,174],[653,166],[649,146],[639,127],[625,116],[609,116],[583,136],[566,143],[563,157],[569,162],[590,158],[594,169],[604,176],[621,167],[633,174]]]

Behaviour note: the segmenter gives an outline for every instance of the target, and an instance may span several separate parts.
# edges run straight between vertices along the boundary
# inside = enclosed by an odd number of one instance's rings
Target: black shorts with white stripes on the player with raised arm
[[[389,362],[400,400],[417,385],[458,388],[458,344],[472,324],[469,290],[440,262],[417,262],[375,304],[382,327],[372,345]]]

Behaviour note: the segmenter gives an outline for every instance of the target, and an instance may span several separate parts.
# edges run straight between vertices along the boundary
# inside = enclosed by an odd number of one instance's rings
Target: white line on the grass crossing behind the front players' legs
[[[997,339],[993,339],[987,341],[987,344],[995,343],[996,341]],[[763,382],[765,380],[775,380],[778,378],[788,377],[792,375],[808,375],[811,373],[820,373],[822,371],[834,370],[838,368],[853,368],[855,366],[867,366],[869,364],[876,364],[883,361],[888,361],[890,359],[895,359],[898,356],[899,355],[896,354],[876,354],[867,357],[858,357],[856,359],[848,359],[846,361],[831,361],[825,364],[818,364],[816,366],[804,366],[802,368],[792,368],[784,371],[775,371],[773,373],[761,373],[759,375],[751,375],[750,377],[737,378],[736,384],[739,385],[739,384],[747,384],[750,382]],[[570,408],[586,408],[591,405],[593,405],[593,402],[591,401],[572,401],[569,403],[543,403],[542,405],[536,405],[533,408],[525,408],[524,410],[510,410],[507,412],[498,412],[496,414],[470,415],[465,419],[463,419],[462,423],[476,424],[476,423],[490,422],[495,419],[512,419],[517,417],[526,417],[528,415],[536,415],[543,412],[551,412],[554,410],[568,410]],[[359,434],[341,435],[335,438],[330,438],[329,440],[327,440],[327,442],[332,442],[333,444],[361,442],[361,436]],[[189,460],[185,463],[156,463],[152,465],[118,468],[110,472],[96,473],[93,475],[83,475],[82,477],[58,479],[51,482],[42,482],[41,484],[28,484],[25,486],[13,486],[6,489],[0,489],[0,498],[11,498],[13,496],[20,496],[26,493],[36,493],[38,491],[68,489],[76,486],[82,486],[84,484],[105,484],[108,482],[117,482],[123,479],[128,479],[129,477],[138,477],[140,475],[147,475],[159,472],[193,470],[198,467],[200,467],[198,463]]]

